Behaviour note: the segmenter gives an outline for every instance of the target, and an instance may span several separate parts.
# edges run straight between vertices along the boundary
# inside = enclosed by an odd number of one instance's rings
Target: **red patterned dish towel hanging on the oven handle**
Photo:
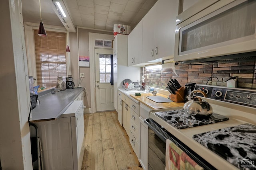
[[[165,170],[204,170],[169,139],[166,140],[165,163]]]

